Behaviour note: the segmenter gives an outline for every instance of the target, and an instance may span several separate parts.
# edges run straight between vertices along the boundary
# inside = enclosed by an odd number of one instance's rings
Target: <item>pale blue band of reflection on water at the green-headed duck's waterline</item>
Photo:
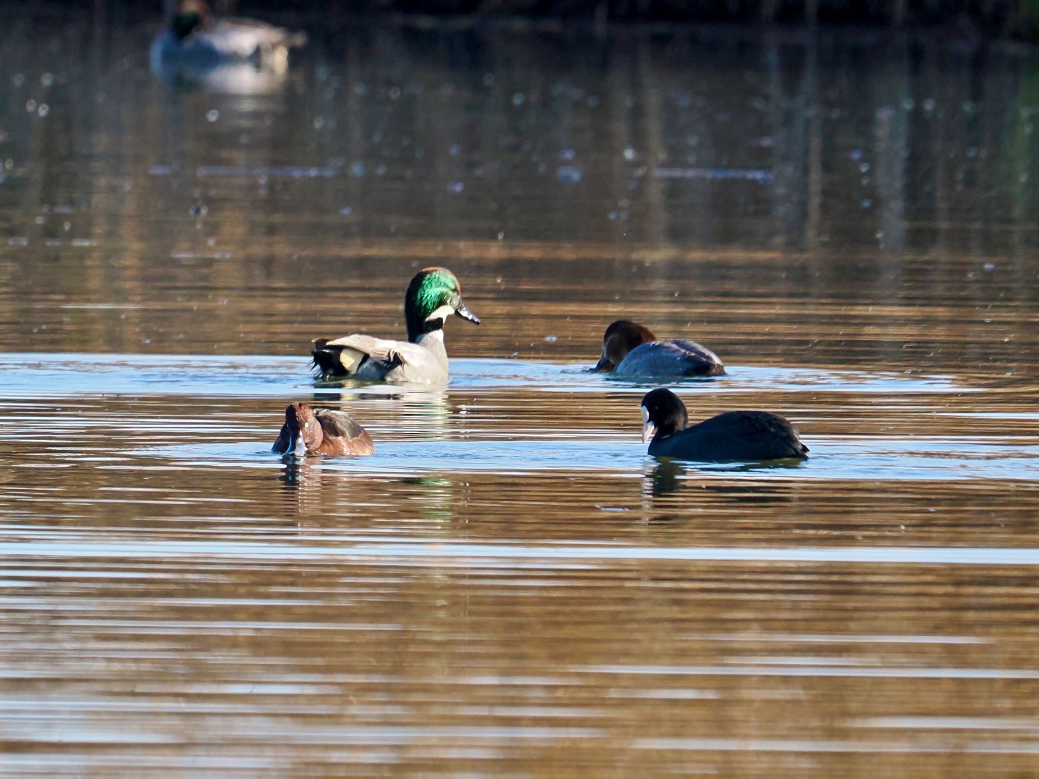
[[[7,397],[66,398],[78,395],[278,396],[295,392],[315,399],[383,397],[403,403],[438,404],[443,391],[425,385],[374,384],[315,379],[305,357],[266,355],[0,354]],[[685,391],[705,395],[753,393],[763,386],[782,392],[832,392],[868,395],[949,393],[980,387],[954,381],[949,374],[918,371],[852,371],[810,368],[729,366],[722,377],[690,378]],[[975,384],[1000,377],[974,376]],[[1008,382],[1003,381],[1002,384]],[[471,391],[527,388],[549,393],[634,393],[652,384],[643,380],[591,373],[580,364],[518,359],[451,360],[451,386]]]

